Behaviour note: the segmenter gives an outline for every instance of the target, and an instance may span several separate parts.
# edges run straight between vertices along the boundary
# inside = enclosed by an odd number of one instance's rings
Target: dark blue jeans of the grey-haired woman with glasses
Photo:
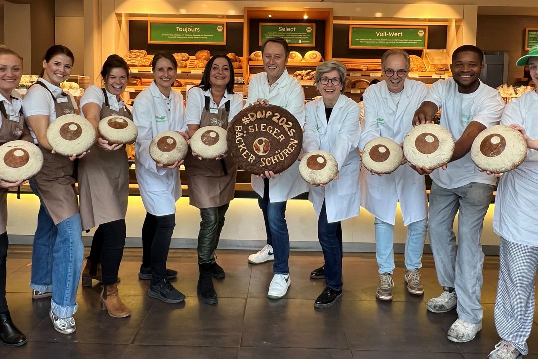
[[[317,220],[317,237],[320,240],[325,259],[325,286],[342,290],[342,224],[327,222],[325,201]]]

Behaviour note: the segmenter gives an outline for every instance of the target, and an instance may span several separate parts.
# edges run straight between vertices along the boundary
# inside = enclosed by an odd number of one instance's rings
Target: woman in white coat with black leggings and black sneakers
[[[142,227],[143,258],[139,277],[151,279],[148,294],[168,303],[185,300],[169,279],[177,275],[166,269],[166,259],[175,227],[175,202],[181,197],[178,167],[156,163],[150,156],[150,143],[162,131],[177,131],[188,139],[183,118],[183,96],[172,89],[178,62],[162,51],[153,57],[154,81],[138,95],[133,106],[133,121],[138,127],[135,144],[136,174],[147,214]],[[151,273],[151,277],[142,274]]]

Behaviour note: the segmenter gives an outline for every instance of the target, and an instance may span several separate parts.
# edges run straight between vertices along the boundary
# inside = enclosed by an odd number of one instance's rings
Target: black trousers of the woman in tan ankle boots
[[[101,263],[103,285],[112,285],[118,281],[125,235],[124,219],[100,224],[95,230],[88,260],[92,266]]]

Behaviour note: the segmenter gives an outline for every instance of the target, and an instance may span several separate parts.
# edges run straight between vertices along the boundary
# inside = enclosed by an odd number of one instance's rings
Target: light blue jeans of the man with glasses
[[[378,272],[391,273],[394,270],[394,226],[376,218],[373,222],[376,230],[376,259]],[[407,228],[405,245],[405,266],[408,270],[422,268],[422,252],[426,240],[428,220],[410,223]]]

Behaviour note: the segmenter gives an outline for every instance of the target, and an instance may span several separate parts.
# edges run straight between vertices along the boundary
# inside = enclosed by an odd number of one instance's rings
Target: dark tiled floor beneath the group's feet
[[[484,264],[483,329],[469,343],[454,343],[446,333],[456,312],[429,313],[426,300],[440,294],[433,259],[425,255],[422,269],[426,295],[407,293],[404,263],[397,255],[394,299],[376,301],[377,265],[373,254],[344,255],[342,301],[324,309],[313,300],[323,280],[309,272],[323,262],[317,252],[292,252],[292,286],[284,299],[266,298],[272,264],[247,264],[249,251],[218,253],[226,278],[214,280],[218,304],[196,298],[198,269],[194,250],[171,250],[168,267],[179,271],[174,285],[187,295],[181,304],[165,304],[147,296],[148,281],[137,277],[140,250],[126,249],[119,270],[119,291],[131,309],[129,318],[112,318],[99,308],[101,286],[79,287],[77,330],[57,333],[48,318],[48,299],[30,295],[31,247],[13,246],[8,256],[8,302],[16,324],[29,342],[19,348],[0,345],[0,358],[383,358],[478,359],[497,343],[493,302],[497,257]],[[529,339],[530,355],[538,359],[538,325]]]

